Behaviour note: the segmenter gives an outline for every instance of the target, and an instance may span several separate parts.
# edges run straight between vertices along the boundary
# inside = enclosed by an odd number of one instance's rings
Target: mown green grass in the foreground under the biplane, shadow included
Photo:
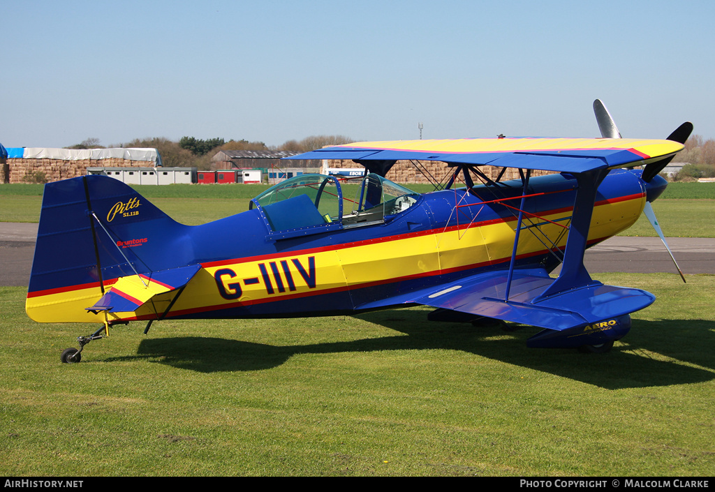
[[[659,299],[606,355],[428,309],[136,323],[59,353],[0,287],[4,476],[711,476],[715,276],[599,275]]]

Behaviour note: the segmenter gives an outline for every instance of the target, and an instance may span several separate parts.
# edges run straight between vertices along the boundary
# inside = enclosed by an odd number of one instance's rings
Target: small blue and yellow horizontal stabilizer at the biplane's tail
[[[131,313],[148,302],[152,297],[180,289],[201,270],[201,265],[172,268],[147,275],[121,277],[104,293],[101,299],[87,308],[91,313]]]

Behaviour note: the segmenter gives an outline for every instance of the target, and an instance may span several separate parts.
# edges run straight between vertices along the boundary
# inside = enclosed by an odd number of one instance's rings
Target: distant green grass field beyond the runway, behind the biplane
[[[409,185],[418,192],[430,185]],[[248,210],[250,200],[267,189],[262,184],[135,186],[170,217],[198,225]],[[41,207],[41,184],[0,184],[0,222],[37,222]],[[670,237],[715,237],[715,184],[671,183],[653,208],[664,233]],[[645,216],[621,233],[654,236]]]

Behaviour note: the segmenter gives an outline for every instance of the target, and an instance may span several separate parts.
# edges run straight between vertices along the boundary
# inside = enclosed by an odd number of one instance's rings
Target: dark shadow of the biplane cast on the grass
[[[215,373],[275,368],[293,355],[305,353],[445,349],[606,389],[701,383],[715,378],[711,321],[634,320],[633,333],[626,345],[617,344],[608,354],[582,354],[573,349],[526,348],[524,340],[533,334],[532,327],[508,325],[505,330],[501,325],[475,327],[468,323],[428,322],[424,311],[415,310],[381,311],[359,318],[408,336],[283,346],[227,338],[160,338],[142,340],[137,357],[175,368]],[[699,341],[694,345],[693,340]]]

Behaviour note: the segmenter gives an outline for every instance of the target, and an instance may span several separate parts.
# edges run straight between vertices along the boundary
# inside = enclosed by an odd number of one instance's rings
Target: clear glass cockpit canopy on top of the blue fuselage
[[[419,193],[377,174],[368,174],[360,183],[301,174],[261,193],[250,208],[260,210],[272,231],[270,239],[284,239],[390,222],[419,199]]]

